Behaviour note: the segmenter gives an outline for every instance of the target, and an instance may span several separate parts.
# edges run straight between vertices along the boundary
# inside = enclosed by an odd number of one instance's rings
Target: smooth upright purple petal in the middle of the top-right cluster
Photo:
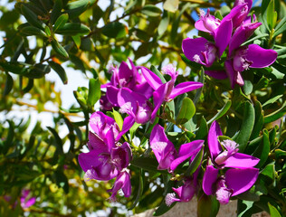
[[[221,57],[224,53],[225,48],[228,45],[233,33],[233,22],[232,20],[226,20],[220,24],[216,29],[215,33],[215,45],[218,48],[218,55]]]

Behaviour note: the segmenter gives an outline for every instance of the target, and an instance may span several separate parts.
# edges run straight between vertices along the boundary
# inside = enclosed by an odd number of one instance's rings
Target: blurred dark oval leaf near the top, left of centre
[[[102,28],[102,33],[109,38],[119,39],[125,37],[127,32],[124,24],[112,22]]]

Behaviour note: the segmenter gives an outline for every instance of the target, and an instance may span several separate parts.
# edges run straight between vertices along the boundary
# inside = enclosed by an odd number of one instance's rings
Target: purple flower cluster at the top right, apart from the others
[[[264,68],[271,65],[277,58],[277,52],[263,49],[257,44],[242,45],[261,23],[252,21],[255,16],[247,16],[253,5],[252,0],[236,0],[230,14],[219,20],[207,10],[205,14],[201,11],[200,19],[195,23],[199,31],[210,33],[214,42],[205,38],[187,38],[183,40],[182,49],[186,58],[204,65],[205,74],[218,79],[228,78],[231,87],[235,84],[244,85],[242,72],[249,68]],[[228,51],[226,48],[228,47]],[[215,60],[221,60],[224,51],[224,70],[208,69]]]

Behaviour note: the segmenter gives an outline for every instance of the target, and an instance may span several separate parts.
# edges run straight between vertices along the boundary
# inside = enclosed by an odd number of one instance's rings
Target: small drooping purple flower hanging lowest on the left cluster
[[[113,187],[108,190],[111,192],[110,201],[116,201],[116,194],[118,191],[122,189],[124,196],[129,197],[131,194],[131,182],[130,182],[130,175],[127,171],[122,171],[116,178]]]

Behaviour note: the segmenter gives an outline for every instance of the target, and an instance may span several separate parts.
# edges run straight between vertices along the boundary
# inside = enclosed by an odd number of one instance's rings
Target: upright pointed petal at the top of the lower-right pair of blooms
[[[220,145],[217,139],[218,136],[222,135],[223,135],[222,130],[219,127],[217,121],[215,120],[211,125],[207,136],[208,148],[210,150],[210,154],[213,160],[223,150],[222,146]]]

